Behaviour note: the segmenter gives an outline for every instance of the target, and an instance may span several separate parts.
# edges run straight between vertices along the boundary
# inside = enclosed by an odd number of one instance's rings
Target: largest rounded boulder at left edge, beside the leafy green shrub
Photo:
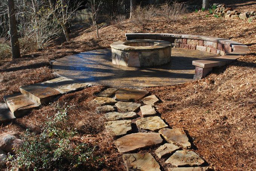
[[[0,135],[0,149],[6,153],[15,153],[15,151],[18,150],[22,144],[23,141],[16,138],[14,135],[10,135],[8,133],[3,133]]]

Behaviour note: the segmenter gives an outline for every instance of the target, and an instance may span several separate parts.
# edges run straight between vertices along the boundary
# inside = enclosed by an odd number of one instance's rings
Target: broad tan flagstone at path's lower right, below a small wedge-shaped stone
[[[204,163],[204,160],[198,156],[194,151],[179,150],[172,154],[165,163],[171,163],[176,167],[182,166],[200,166]]]

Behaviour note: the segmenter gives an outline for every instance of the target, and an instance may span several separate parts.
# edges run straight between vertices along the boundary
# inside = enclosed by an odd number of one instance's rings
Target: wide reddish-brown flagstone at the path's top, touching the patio
[[[116,100],[137,101],[145,97],[149,92],[143,89],[119,89],[116,92]]]

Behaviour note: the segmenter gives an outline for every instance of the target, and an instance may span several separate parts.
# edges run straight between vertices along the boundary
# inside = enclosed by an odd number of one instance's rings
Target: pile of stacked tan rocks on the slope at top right
[[[214,13],[220,17],[241,19],[241,20],[256,19],[256,11],[238,12],[236,10],[233,10],[231,7],[226,6],[225,4],[213,4],[213,6],[217,7]]]

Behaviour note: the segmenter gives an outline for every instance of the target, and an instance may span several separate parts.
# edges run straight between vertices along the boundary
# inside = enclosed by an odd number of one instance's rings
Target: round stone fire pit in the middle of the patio
[[[129,40],[111,44],[112,63],[124,67],[154,67],[171,61],[171,43],[161,40]]]

